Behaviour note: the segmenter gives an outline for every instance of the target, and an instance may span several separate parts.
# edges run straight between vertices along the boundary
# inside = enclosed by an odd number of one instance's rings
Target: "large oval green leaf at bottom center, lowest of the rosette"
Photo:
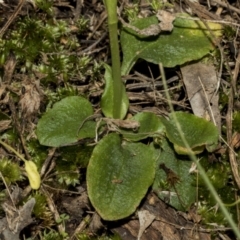
[[[153,148],[142,143],[121,142],[116,133],[95,147],[87,169],[89,198],[105,220],[132,214],[155,175]]]

